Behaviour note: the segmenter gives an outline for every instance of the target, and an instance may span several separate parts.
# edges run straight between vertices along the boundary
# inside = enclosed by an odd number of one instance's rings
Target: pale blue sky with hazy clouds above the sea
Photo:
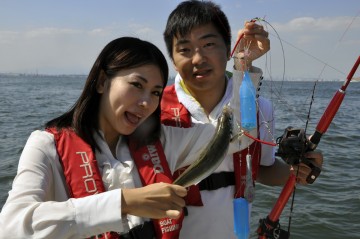
[[[125,35],[149,40],[167,55],[162,32],[179,2],[0,0],[0,73],[88,74],[101,49]],[[253,17],[265,17],[279,33],[281,41],[269,28],[271,50],[254,62],[272,77],[283,74],[285,59],[286,77],[343,80],[360,55],[359,0],[214,2],[228,16],[233,43]]]

